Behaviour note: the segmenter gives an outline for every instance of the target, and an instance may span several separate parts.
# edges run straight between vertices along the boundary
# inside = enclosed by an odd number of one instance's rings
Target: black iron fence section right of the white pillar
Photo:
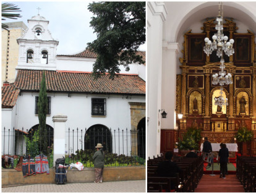
[[[66,132],[67,164],[80,161],[85,167],[93,166],[92,157],[98,143],[103,146],[106,166],[145,164],[145,130],[111,130],[103,125]]]

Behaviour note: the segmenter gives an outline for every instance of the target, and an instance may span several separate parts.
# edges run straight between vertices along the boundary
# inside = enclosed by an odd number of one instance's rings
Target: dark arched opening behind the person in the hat
[[[95,150],[97,143],[101,143],[103,150],[112,153],[112,135],[105,125],[92,125],[85,133],[85,150]]]

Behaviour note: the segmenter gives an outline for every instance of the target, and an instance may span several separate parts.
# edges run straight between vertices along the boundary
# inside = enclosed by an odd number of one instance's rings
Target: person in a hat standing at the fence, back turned
[[[98,143],[95,148],[97,148],[97,151],[93,155],[94,168],[95,168],[95,183],[100,183],[102,182],[102,178],[103,178],[104,152],[101,149],[103,148],[101,143]]]

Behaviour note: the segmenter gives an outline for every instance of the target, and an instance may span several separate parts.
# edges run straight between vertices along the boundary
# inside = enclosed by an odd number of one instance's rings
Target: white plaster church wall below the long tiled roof
[[[19,121],[17,123],[17,128],[24,130],[29,130],[34,125],[38,124],[38,116],[35,115],[35,96],[38,93],[27,93],[22,92],[22,96],[19,96],[19,110],[17,115],[19,116]],[[70,128],[70,134],[74,129],[75,132],[77,128],[79,129],[79,142],[81,139],[81,129],[83,130],[83,138],[85,134],[85,129],[88,129],[92,125],[101,124],[111,128],[112,132],[114,130],[126,130],[130,131],[130,105],[129,102],[142,102],[145,103],[145,96],[130,96],[126,99],[127,95],[85,95],[85,94],[71,94],[68,97],[64,93],[48,93],[51,96],[51,115],[47,116],[46,124],[54,127],[53,116],[55,115],[65,115],[67,116],[66,122],[66,150],[68,147],[73,145],[72,137],[70,137],[70,146],[68,146],[68,129]],[[92,98],[106,98],[106,117],[92,117],[91,116],[91,99]],[[26,110],[24,112],[24,110]],[[117,133],[116,133],[117,135]],[[120,133],[121,135],[121,133]],[[117,139],[116,139],[117,140]],[[121,141],[122,139],[120,139]],[[84,141],[84,140],[83,140]],[[116,142],[116,149],[118,143]],[[120,143],[122,148],[122,144]],[[128,138],[128,147],[130,148],[130,138]],[[74,149],[77,150],[77,133],[75,133],[74,138]],[[79,144],[79,149],[81,149],[81,144]],[[113,140],[114,149],[114,140]],[[121,149],[122,150],[122,149]],[[124,151],[126,154],[126,143],[124,143]],[[68,150],[67,150],[68,151]],[[130,150],[128,150],[130,153]]]

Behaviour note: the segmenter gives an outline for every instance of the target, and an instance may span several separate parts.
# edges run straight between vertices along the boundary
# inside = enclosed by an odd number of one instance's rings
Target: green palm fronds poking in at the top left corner
[[[10,12],[20,12],[19,9],[20,8],[18,8],[17,6],[15,6],[12,3],[3,2],[2,3],[2,20],[6,20],[4,18],[17,19],[17,17],[22,17],[20,14],[10,13]],[[7,30],[8,26],[6,24],[2,23],[2,28]]]

